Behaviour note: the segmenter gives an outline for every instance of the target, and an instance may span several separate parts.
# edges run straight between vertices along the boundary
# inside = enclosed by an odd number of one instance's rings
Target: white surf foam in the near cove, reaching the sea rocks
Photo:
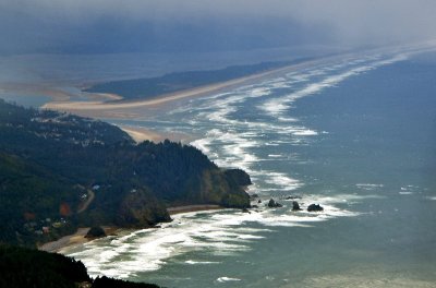
[[[216,256],[237,255],[251,250],[250,243],[265,239],[268,232],[275,230],[274,227],[312,227],[315,223],[331,218],[359,215],[335,206],[347,199],[362,200],[356,195],[324,199],[311,195],[299,200],[304,209],[301,212],[292,212],[290,202],[278,200],[283,207],[277,209],[261,206],[251,213],[229,209],[174,215],[174,220],[164,224],[160,229],[140,230],[125,236],[99,239],[70,255],[83,261],[92,276],[126,278],[141,272],[159,269],[169,259],[189,252],[207,251],[205,253]],[[324,212],[305,211],[310,203],[322,203]],[[250,224],[258,224],[261,227],[254,228]],[[187,260],[184,263],[219,264],[216,261],[195,260]]]

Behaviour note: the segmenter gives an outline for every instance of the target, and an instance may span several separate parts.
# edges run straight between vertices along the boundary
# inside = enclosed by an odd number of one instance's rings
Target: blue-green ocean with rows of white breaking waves
[[[63,251],[90,275],[165,287],[436,287],[436,53],[315,62],[123,123],[192,135],[217,165],[246,170],[262,203]],[[271,197],[283,207],[266,207]],[[306,212],[312,203],[324,212]]]

